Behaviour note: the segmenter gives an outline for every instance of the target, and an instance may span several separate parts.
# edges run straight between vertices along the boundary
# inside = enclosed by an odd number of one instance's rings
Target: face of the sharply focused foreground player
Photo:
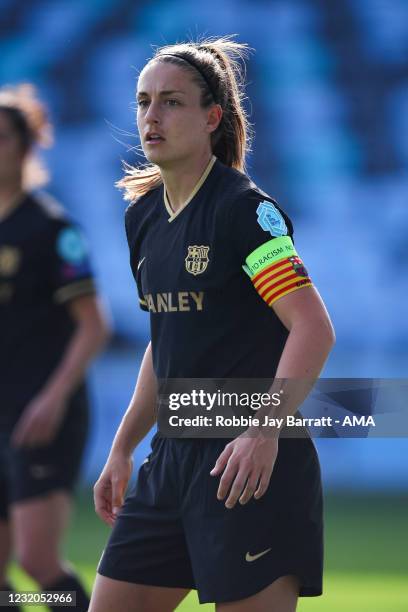
[[[217,111],[202,108],[200,97],[189,73],[174,64],[153,62],[142,71],[137,126],[150,162],[165,169],[211,151],[210,134],[218,124],[212,115]]]

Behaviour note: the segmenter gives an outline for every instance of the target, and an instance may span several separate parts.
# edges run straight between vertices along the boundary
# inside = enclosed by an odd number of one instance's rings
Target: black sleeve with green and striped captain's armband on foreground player
[[[312,285],[293,244],[292,222],[274,200],[250,194],[232,203],[229,227],[244,272],[269,306]]]

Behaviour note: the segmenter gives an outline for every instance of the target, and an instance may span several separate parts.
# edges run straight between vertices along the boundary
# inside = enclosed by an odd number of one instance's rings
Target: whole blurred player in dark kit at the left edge
[[[85,372],[107,324],[80,230],[32,193],[47,182],[35,148],[51,136],[32,86],[0,89],[0,589],[14,549],[43,590],[76,591],[85,611],[60,545],[87,437]]]

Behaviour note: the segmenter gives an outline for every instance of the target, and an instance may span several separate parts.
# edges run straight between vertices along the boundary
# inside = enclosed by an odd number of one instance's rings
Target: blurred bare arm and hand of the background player
[[[13,443],[17,446],[39,446],[54,438],[70,395],[107,339],[108,326],[95,295],[74,298],[67,307],[76,329],[60,363],[17,422],[13,432]]]

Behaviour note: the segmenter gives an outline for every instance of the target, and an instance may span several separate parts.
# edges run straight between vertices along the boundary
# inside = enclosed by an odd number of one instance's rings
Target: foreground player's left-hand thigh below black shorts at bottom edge
[[[172,612],[188,589],[148,586],[96,575],[88,612]]]

